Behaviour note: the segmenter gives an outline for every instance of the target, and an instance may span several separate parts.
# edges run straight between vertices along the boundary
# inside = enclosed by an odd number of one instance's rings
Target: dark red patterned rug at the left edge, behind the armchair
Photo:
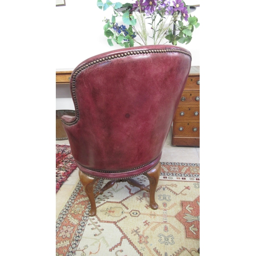
[[[76,167],[70,145],[56,144],[56,193]]]

